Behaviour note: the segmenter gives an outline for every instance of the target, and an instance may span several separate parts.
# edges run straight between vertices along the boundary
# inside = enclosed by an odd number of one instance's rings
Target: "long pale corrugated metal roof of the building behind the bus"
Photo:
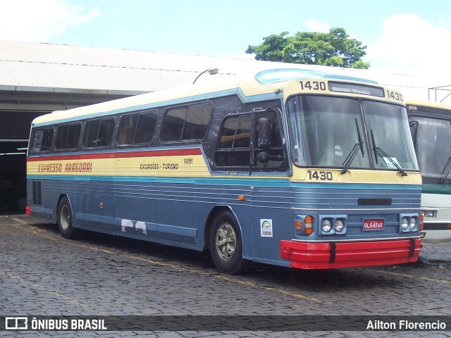
[[[242,58],[0,41],[0,90],[139,94],[190,84],[200,72],[211,66],[219,69],[218,75],[202,75],[198,82],[287,65],[293,68],[325,68]],[[414,99],[428,99],[428,88],[449,81],[445,75],[433,77],[431,74],[327,68],[329,73],[346,73],[376,80]]]

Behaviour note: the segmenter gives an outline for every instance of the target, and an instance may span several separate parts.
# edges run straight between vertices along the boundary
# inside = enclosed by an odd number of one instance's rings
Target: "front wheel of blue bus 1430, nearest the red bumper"
[[[218,270],[230,275],[246,270],[248,262],[242,258],[240,228],[230,211],[223,211],[214,218],[209,244],[211,258]]]

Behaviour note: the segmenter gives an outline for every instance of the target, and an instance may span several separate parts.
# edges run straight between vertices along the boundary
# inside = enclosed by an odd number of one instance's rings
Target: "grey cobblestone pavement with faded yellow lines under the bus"
[[[253,264],[217,272],[202,253],[0,216],[0,315],[451,315],[451,243],[418,263],[339,270]],[[450,337],[447,332],[13,332],[2,337]]]

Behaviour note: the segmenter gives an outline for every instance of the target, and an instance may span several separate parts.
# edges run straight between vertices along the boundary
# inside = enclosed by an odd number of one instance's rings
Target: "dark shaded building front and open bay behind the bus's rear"
[[[127,95],[0,91],[0,213],[25,210],[26,150],[34,118]],[[21,153],[21,154],[20,154]]]

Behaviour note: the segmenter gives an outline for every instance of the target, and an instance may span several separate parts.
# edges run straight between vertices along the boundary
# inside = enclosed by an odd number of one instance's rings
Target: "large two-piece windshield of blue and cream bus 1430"
[[[296,165],[342,168],[358,147],[352,168],[371,168],[372,157],[375,168],[417,170],[402,106],[303,95],[290,98],[287,110]]]

